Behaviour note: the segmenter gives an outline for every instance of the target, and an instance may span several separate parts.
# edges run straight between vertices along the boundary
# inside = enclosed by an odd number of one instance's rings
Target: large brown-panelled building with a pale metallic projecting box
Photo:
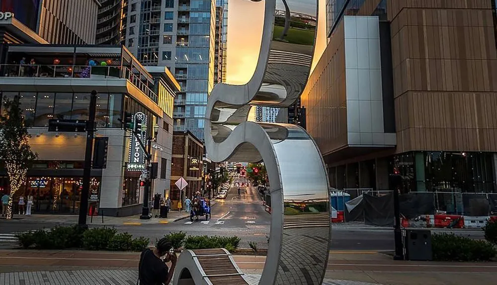
[[[326,8],[329,42],[302,105],[331,186],[495,192],[496,1]]]

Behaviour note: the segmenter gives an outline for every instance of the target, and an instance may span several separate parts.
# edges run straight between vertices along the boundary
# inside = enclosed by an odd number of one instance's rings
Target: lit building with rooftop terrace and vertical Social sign
[[[96,137],[108,138],[107,164],[91,170],[90,204],[107,216],[141,212],[144,199],[139,180],[144,153],[131,147],[131,134],[122,128],[123,112],[145,116],[146,134],[153,137],[152,161],[159,163],[154,193],[168,195],[172,148],[172,104],[179,84],[163,69],[147,72],[121,46],[6,45],[0,65],[1,102],[20,96],[29,143],[38,160],[28,170],[19,194],[34,196],[37,213],[78,213],[86,135],[49,132],[50,119],[88,119],[90,92],[98,92]],[[19,65],[21,58],[35,65]],[[1,107],[0,107],[1,108]],[[1,109],[3,111],[3,109]],[[132,158],[140,158],[134,161]],[[0,167],[0,188],[8,191]],[[147,199],[147,197],[145,197]]]

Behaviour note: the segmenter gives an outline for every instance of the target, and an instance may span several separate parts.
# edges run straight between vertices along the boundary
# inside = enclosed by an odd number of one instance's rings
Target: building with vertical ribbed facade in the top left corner
[[[97,0],[0,0],[4,43],[94,44]]]

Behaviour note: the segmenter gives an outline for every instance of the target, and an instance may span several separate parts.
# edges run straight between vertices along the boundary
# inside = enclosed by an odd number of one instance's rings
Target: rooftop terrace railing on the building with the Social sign
[[[158,96],[145,83],[135,76],[127,67],[121,66],[85,66],[85,65],[19,65],[1,64],[0,77],[32,78],[125,78],[133,83],[145,95],[158,102]]]

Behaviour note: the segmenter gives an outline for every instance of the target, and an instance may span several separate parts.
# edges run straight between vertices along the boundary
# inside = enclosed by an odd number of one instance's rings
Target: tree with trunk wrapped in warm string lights
[[[7,219],[12,218],[14,194],[24,183],[29,166],[38,157],[28,143],[28,129],[24,125],[19,99],[16,95],[13,100],[3,102],[0,114],[0,161],[5,165],[10,186]]]

